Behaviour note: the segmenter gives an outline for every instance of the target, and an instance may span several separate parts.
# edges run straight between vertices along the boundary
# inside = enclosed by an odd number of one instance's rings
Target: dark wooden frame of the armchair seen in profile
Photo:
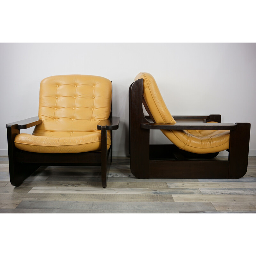
[[[143,113],[144,105],[149,116]],[[247,172],[250,123],[220,123],[220,115],[173,116],[175,120],[201,119],[205,123],[155,124],[143,98],[143,79],[129,87],[129,152],[131,172],[140,179],[239,179]],[[154,123],[149,123],[148,120]],[[208,123],[208,122],[218,123]],[[219,152],[195,154],[173,144],[150,145],[150,130],[230,130],[228,160],[212,159]],[[192,160],[193,159],[193,160]],[[206,160],[209,159],[209,160]]]

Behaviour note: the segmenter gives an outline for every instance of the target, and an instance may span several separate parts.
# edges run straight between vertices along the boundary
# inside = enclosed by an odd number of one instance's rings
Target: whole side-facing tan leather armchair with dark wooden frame
[[[144,116],[142,104],[149,116]],[[154,77],[139,73],[129,88],[129,150],[133,175],[229,179],[244,176],[251,124],[220,123],[220,118],[220,115],[172,116]],[[202,119],[205,123],[175,121],[186,119]],[[149,145],[152,129],[161,130],[173,144]],[[212,159],[223,150],[229,152],[227,161]]]

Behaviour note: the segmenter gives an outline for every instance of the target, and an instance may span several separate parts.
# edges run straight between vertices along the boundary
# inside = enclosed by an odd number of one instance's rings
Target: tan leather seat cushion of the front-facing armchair
[[[16,148],[36,153],[81,153],[101,150],[101,132],[37,132],[20,133],[15,137]],[[108,131],[108,149],[110,131]]]

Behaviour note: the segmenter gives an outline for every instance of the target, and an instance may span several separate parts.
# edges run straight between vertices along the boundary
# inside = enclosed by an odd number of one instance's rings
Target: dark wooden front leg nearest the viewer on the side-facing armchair
[[[247,172],[251,124],[236,125],[236,130],[230,131],[228,179],[239,179]]]

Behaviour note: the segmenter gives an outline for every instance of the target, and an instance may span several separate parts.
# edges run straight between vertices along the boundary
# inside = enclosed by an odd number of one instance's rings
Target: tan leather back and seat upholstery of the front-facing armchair
[[[78,153],[100,150],[97,124],[111,110],[111,81],[100,76],[50,76],[41,81],[38,116],[32,135],[21,133],[15,146],[38,153]],[[110,132],[108,131],[108,148]]]

